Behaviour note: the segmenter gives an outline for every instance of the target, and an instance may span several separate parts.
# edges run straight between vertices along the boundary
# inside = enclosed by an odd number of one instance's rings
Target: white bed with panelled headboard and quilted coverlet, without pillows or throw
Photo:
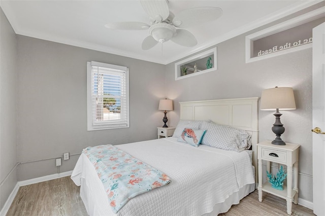
[[[193,147],[177,137],[115,146],[171,179],[167,186],[130,199],[117,213],[112,211],[93,163],[81,154],[71,178],[81,186],[80,196],[88,214],[217,215],[228,211],[256,188],[257,102],[257,97],[180,102],[181,121],[212,121],[247,131],[251,151]]]

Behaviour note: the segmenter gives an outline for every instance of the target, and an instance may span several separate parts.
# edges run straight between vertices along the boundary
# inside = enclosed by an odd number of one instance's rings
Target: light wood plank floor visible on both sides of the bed
[[[7,215],[87,215],[77,187],[70,176],[47,182],[27,185],[19,191]],[[271,194],[263,194],[263,202],[258,202],[255,190],[242,199],[238,205],[219,216],[232,215],[287,215],[286,201]],[[313,211],[293,204],[292,215],[314,215]],[[172,215],[171,215],[172,216]]]

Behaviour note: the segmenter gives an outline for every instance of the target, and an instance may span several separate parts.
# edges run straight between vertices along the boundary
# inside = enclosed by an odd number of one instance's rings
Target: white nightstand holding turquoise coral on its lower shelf
[[[262,202],[263,191],[275,196],[286,199],[286,211],[291,214],[293,200],[298,204],[298,160],[299,160],[300,145],[294,143],[286,143],[285,146],[273,145],[271,141],[264,141],[257,144],[257,159],[258,159],[258,201]],[[276,190],[271,187],[269,182],[263,184],[262,161],[267,161],[267,170],[270,172],[271,162],[286,165],[287,176],[286,186],[283,186],[283,191]],[[294,187],[293,183],[294,170]],[[274,173],[272,173],[274,175]],[[294,199],[293,199],[294,198]]]

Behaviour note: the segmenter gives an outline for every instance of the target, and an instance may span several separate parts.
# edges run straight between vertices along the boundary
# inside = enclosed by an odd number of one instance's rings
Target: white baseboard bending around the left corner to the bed
[[[42,176],[42,177],[38,177],[38,178],[32,178],[32,179],[28,179],[28,180],[25,180],[25,181],[17,182],[17,184],[14,187],[13,191],[9,195],[4,207],[1,209],[0,215],[5,216],[7,214],[8,210],[9,210],[9,208],[11,206],[11,203],[15,199],[15,196],[16,196],[18,190],[19,190],[19,187],[25,186],[25,185],[36,184],[36,183],[40,183],[40,182],[45,182],[45,181],[53,180],[53,179],[60,178],[60,177],[66,177],[66,176],[69,176],[71,174],[72,174],[72,171],[61,172],[61,173],[46,175],[46,176]]]

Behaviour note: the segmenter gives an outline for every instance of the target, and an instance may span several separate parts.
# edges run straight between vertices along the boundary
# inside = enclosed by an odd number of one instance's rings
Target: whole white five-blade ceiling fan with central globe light
[[[149,29],[150,35],[142,42],[142,49],[148,50],[158,42],[169,40],[185,47],[198,44],[197,39],[188,30],[182,29],[193,25],[218,19],[222,10],[216,7],[190,8],[181,11],[176,16],[169,11],[168,0],[141,0],[144,11],[150,17],[150,24],[143,22],[114,22],[105,27],[119,30],[145,30]]]

